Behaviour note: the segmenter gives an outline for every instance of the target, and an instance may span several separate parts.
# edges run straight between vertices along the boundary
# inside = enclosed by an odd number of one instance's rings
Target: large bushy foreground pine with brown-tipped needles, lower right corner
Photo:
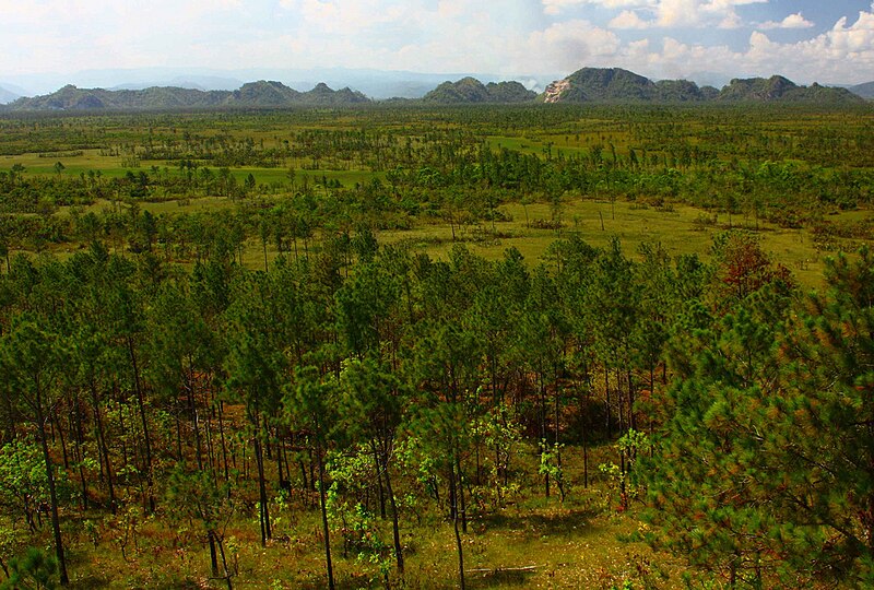
[[[827,261],[699,330],[648,461],[651,541],[732,586],[874,583],[874,259]],[[732,296],[734,296],[732,294]]]

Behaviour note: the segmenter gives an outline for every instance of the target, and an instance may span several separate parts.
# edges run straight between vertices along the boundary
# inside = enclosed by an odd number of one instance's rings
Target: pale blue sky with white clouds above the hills
[[[168,67],[857,84],[874,81],[874,2],[0,0],[0,82]]]

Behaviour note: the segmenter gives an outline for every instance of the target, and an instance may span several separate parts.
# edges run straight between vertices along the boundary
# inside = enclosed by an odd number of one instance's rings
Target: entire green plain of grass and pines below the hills
[[[0,588],[871,586],[872,123],[0,118]]]

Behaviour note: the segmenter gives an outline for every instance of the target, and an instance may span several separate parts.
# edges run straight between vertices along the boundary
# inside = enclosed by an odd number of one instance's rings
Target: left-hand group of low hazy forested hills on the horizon
[[[333,106],[368,103],[364,94],[318,84],[309,92],[298,92],[281,82],[261,80],[236,91],[200,91],[174,86],[144,90],[108,91],[67,85],[59,91],[33,98],[19,98],[7,110],[145,110],[213,107],[283,107],[294,105]]]

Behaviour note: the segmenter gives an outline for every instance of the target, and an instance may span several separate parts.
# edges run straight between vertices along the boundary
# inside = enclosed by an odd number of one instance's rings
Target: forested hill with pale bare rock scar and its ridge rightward
[[[786,102],[853,105],[864,99],[846,88],[813,84],[800,86],[783,76],[735,79],[721,91],[699,87],[687,80],[648,78],[621,68],[583,68],[553,82],[541,95],[545,103],[678,103],[678,102]]]

